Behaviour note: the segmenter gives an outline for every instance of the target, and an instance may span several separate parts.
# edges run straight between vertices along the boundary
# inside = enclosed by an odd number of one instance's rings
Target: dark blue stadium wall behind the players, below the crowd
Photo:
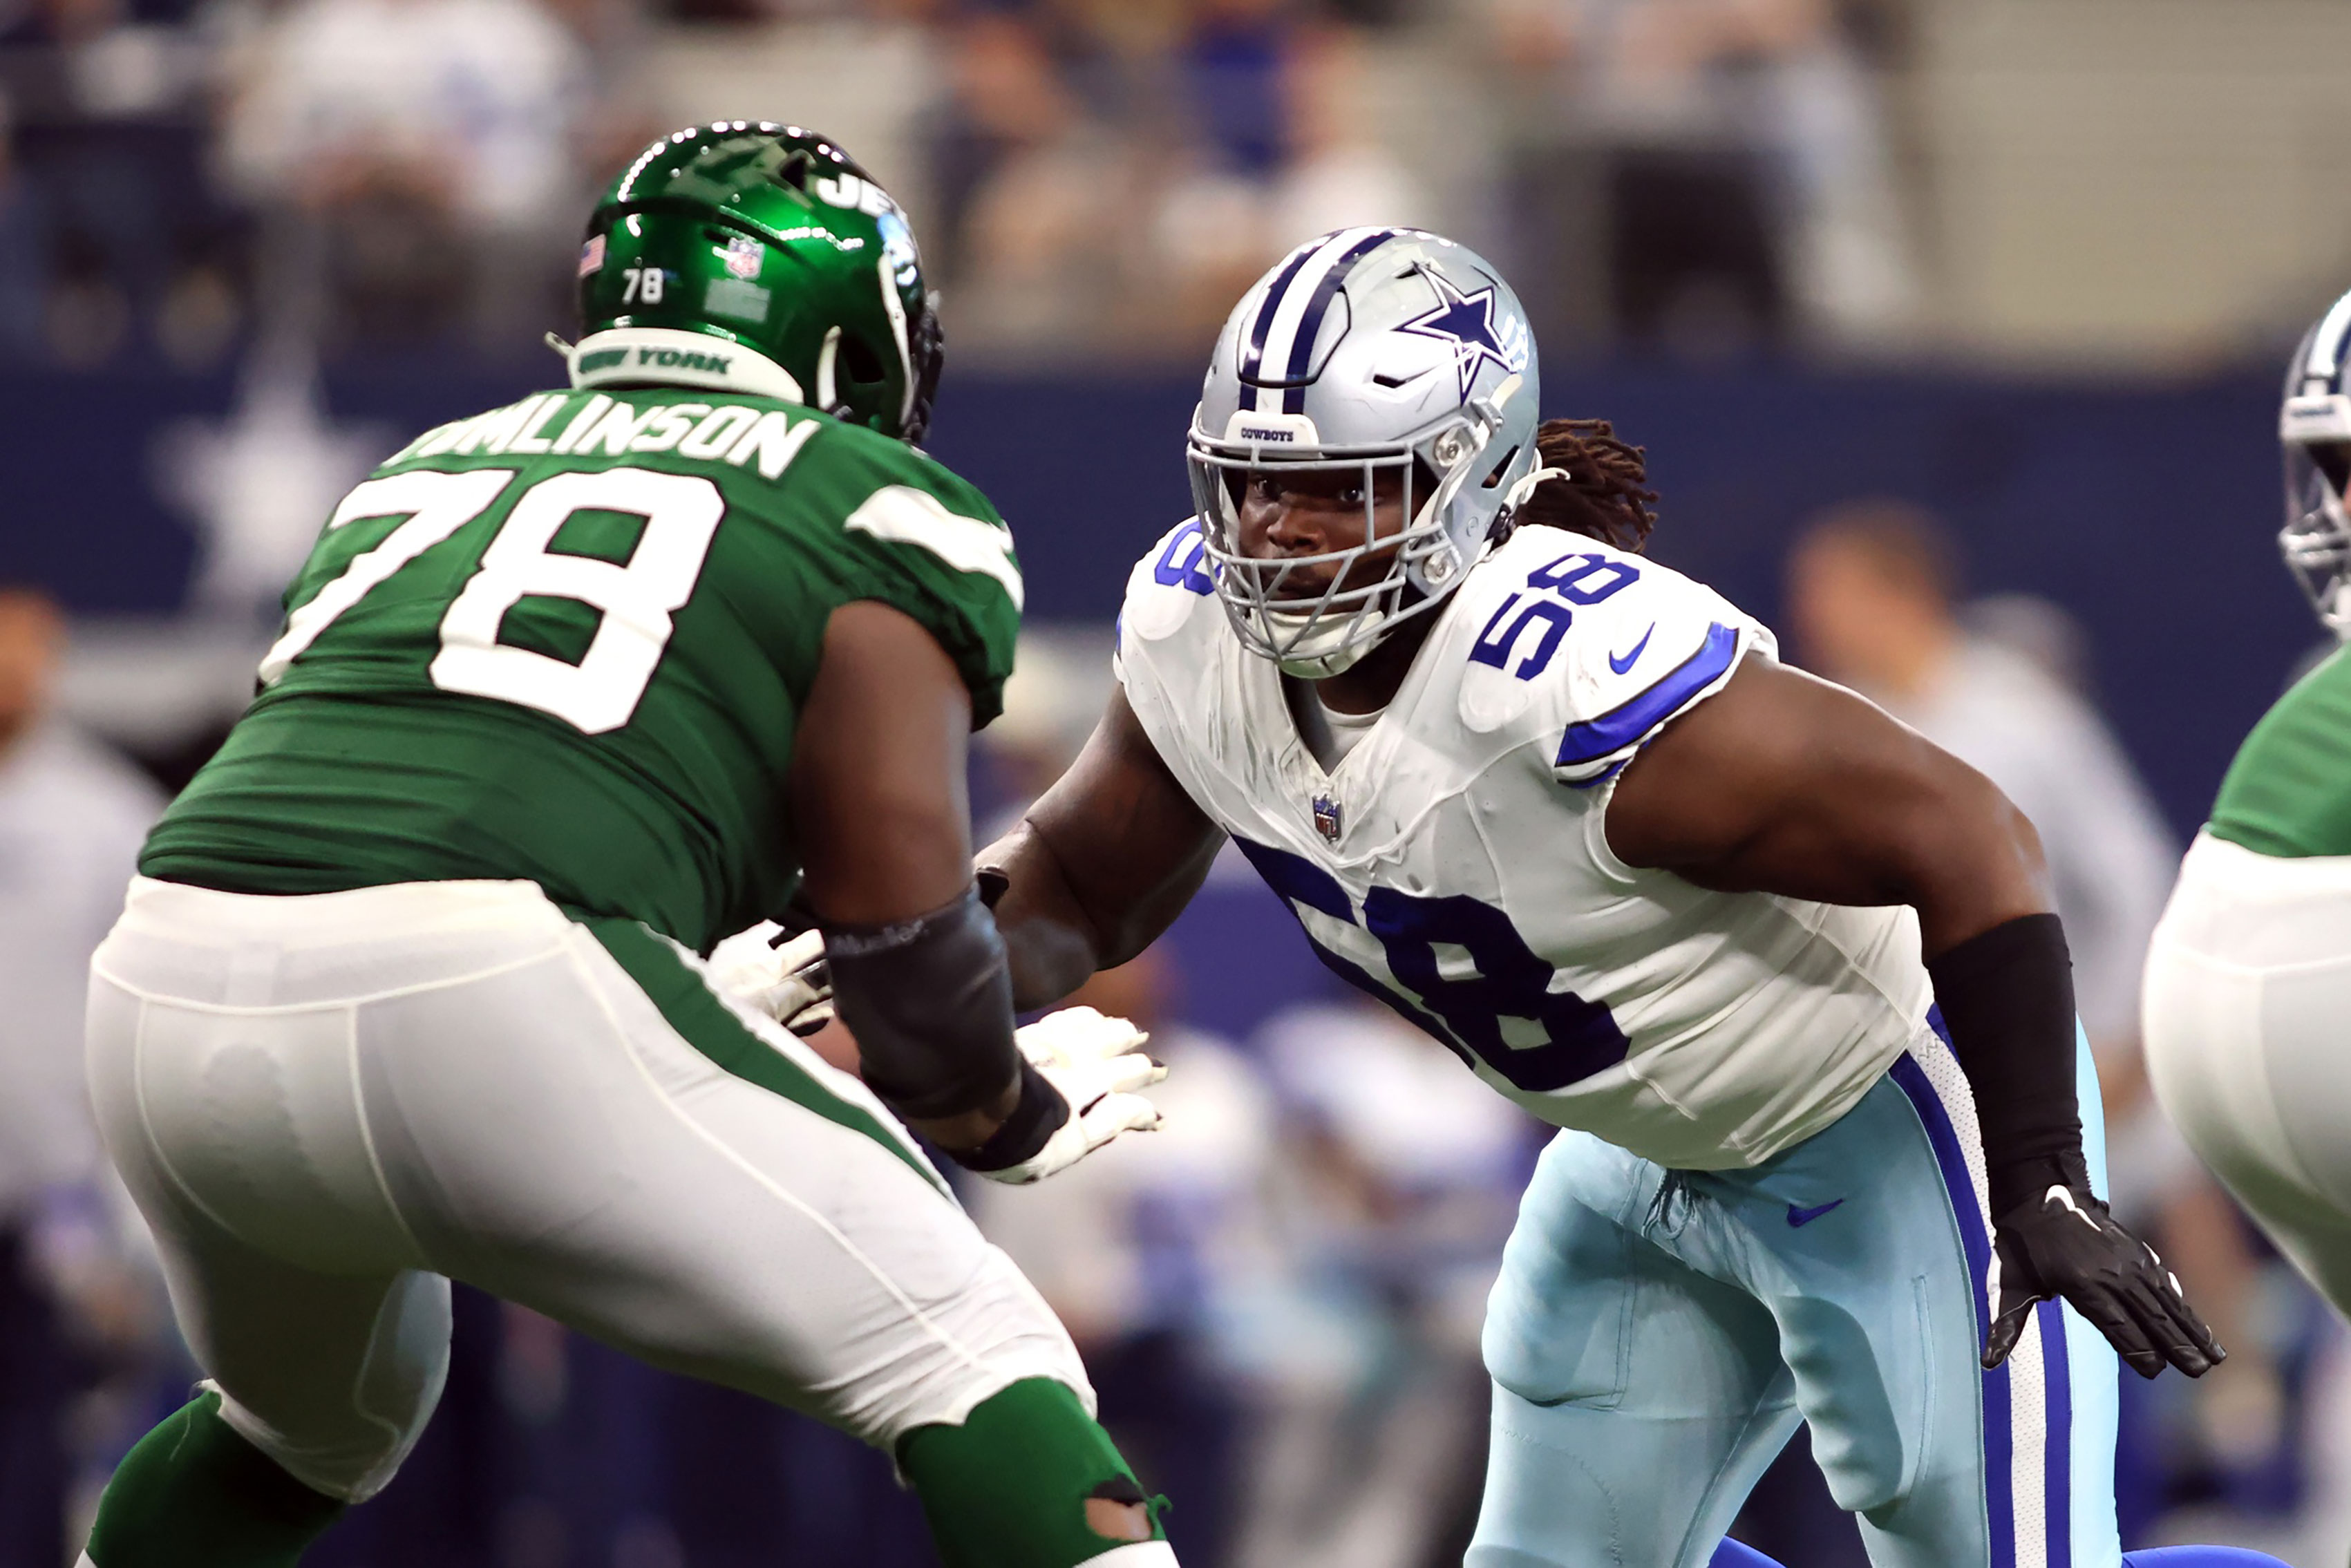
[[[527,374],[529,367],[522,367]],[[437,362],[327,376],[343,423],[411,433],[527,390]],[[155,433],[233,402],[228,378],[0,376],[0,569],[87,614],[179,607],[193,538],[158,498]],[[1813,508],[1897,494],[1961,538],[1972,592],[2057,599],[2099,696],[2182,832],[2318,630],[2278,567],[2273,376],[2179,386],[1566,369],[1549,414],[1601,414],[1650,451],[1653,552],[1775,616]],[[1133,557],[1187,510],[1190,381],[950,374],[936,454],[1013,522],[1030,616],[1105,621]],[[400,435],[404,440],[404,435]]]

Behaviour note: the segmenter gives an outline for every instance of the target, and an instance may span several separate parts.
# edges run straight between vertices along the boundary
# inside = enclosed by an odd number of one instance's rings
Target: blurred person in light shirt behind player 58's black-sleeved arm
[[[1853,686],[1982,771],[2031,820],[2074,957],[2106,1107],[2114,1208],[2184,1279],[2229,1366],[2196,1385],[2203,1443],[2259,1462],[2285,1420],[2243,1222],[2146,1088],[2139,976],[2179,849],[2090,696],[2083,637],[2027,595],[1963,602],[1949,529],[1909,501],[1834,505],[1796,534],[1787,628],[1808,670]],[[2128,1389],[2125,1441],[2156,1410]],[[2130,1432],[2139,1427],[2137,1432]]]

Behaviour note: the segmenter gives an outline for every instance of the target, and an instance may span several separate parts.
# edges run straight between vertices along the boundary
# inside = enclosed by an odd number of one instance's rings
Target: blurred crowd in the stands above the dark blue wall
[[[2344,31],[2316,0],[12,0],[0,353],[522,353],[632,146],[785,113],[903,193],[983,360],[1185,357],[1373,214],[1528,277],[1554,355],[2210,362],[2330,292],[2346,155],[2302,127]]]

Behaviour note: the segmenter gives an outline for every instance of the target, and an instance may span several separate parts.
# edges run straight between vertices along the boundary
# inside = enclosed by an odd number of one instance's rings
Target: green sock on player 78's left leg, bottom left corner
[[[96,1568],[294,1568],[343,1505],[221,1420],[205,1389],[115,1467],[89,1530]]]

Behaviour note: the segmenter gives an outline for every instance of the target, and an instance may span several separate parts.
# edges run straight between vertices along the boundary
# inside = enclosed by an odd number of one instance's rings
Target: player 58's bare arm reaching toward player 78
[[[1013,1006],[1049,1006],[1150,947],[1192,903],[1223,842],[1114,689],[1070,771],[980,851]]]

